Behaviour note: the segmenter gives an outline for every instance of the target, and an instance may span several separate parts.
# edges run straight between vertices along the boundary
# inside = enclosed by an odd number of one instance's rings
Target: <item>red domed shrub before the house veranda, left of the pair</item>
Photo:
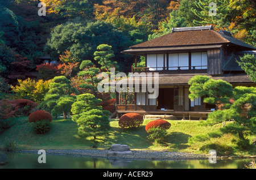
[[[137,128],[143,123],[143,117],[137,113],[127,113],[119,119],[119,127],[121,128]]]

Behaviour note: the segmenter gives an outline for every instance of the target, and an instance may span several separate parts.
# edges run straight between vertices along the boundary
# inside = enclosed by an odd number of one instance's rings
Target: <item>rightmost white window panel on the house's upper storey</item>
[[[207,69],[207,52],[191,53],[191,66],[196,70]]]

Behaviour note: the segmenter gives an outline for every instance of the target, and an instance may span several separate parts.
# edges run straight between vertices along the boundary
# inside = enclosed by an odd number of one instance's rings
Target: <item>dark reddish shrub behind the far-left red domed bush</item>
[[[19,99],[19,100],[13,100],[12,103],[16,106],[15,107],[15,114],[16,115],[28,115],[30,114],[30,111],[38,106],[35,102],[31,100],[26,99]]]

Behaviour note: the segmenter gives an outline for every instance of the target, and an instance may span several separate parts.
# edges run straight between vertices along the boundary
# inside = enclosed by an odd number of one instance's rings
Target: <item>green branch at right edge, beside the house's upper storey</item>
[[[237,63],[250,75],[250,79],[256,82],[256,57],[254,57],[254,54],[246,54],[240,59],[241,62],[237,61]]]

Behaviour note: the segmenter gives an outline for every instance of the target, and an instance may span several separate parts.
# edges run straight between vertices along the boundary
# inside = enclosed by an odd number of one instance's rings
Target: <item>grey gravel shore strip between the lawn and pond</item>
[[[133,151],[133,150],[132,150]],[[38,153],[38,150],[21,150],[18,152],[24,153]],[[69,150],[46,150],[49,155],[71,155],[71,156],[89,156],[89,157],[105,157],[107,158],[108,150],[85,150],[85,149],[69,149]],[[125,157],[122,157],[125,158]],[[192,160],[205,159],[207,155],[197,155],[193,153],[184,152],[167,152],[167,151],[150,151],[150,150],[135,150],[133,156],[127,157],[129,159],[138,160]]]

